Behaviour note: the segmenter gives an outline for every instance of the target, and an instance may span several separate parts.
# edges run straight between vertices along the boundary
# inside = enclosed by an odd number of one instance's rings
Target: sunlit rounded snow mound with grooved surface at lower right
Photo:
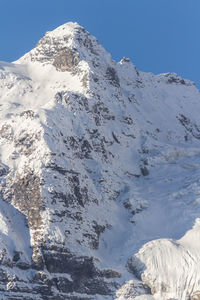
[[[154,299],[189,299],[192,294],[199,299],[199,235],[197,219],[180,240],[149,242],[131,258],[130,268],[151,288]]]

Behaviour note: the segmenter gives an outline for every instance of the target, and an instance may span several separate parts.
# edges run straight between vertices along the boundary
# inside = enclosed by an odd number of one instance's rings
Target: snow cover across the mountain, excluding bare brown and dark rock
[[[18,61],[0,62],[0,162],[13,178],[23,176],[27,166],[45,178],[43,238],[77,255],[93,255],[97,266],[120,272],[118,300],[187,300],[200,289],[199,91],[176,74],[142,73],[127,59],[117,64],[94,37],[83,45],[78,34],[82,40],[88,37],[76,23],[62,25],[47,32]],[[45,51],[55,54],[57,45],[79,52],[77,72],[60,72],[52,65],[53,57]],[[108,67],[115,71],[119,85],[106,77]],[[66,103],[55,99],[57,93],[65,94]],[[81,106],[81,97],[88,107]],[[33,111],[33,118],[23,115],[27,110]],[[27,132],[39,137],[30,156],[16,146]],[[93,144],[91,132],[96,132]],[[63,139],[70,136],[90,141],[91,158],[77,158],[66,148]],[[55,216],[56,210],[63,212],[66,207],[62,203],[55,207],[49,195],[65,194],[69,187],[64,176],[56,177],[45,168],[52,153],[59,166],[79,174],[81,188],[88,188],[90,201],[83,208],[70,207],[81,221]],[[144,167],[149,170],[145,177]],[[28,232],[17,209],[0,202],[1,247],[10,257],[18,250],[30,260],[33,232]],[[94,221],[105,227],[97,250],[85,237],[94,233]],[[137,283],[140,292],[134,296],[132,280],[137,280],[126,268],[133,254],[144,267]],[[151,287],[153,296],[143,294],[142,282]]]

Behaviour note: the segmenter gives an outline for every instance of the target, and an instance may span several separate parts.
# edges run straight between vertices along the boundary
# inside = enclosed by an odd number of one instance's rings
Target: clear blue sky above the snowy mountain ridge
[[[0,0],[0,12],[0,60],[16,60],[73,21],[115,60],[129,57],[141,71],[176,72],[200,87],[200,0]]]

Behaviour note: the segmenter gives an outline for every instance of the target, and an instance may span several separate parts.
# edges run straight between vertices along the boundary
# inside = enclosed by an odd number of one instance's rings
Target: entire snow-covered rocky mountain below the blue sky
[[[199,111],[77,23],[0,62],[0,298],[200,299]]]

